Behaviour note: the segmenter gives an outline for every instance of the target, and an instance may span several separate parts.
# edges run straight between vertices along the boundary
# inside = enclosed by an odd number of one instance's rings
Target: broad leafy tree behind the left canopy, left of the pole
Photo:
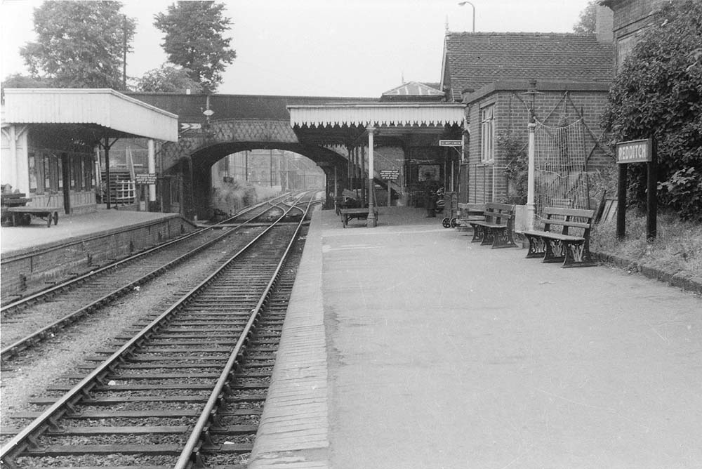
[[[58,88],[123,88],[125,42],[135,21],[119,1],[45,1],[34,8],[38,41],[20,48],[29,73]],[[127,46],[128,47],[128,46]]]

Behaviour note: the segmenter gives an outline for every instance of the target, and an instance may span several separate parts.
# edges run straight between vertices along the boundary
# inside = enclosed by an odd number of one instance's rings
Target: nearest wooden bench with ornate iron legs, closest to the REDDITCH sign
[[[541,262],[562,262],[562,267],[590,267],[595,265],[590,256],[590,228],[594,210],[543,209],[543,230],[529,230],[524,236],[529,239],[527,258],[542,258]],[[552,232],[552,226],[561,226],[560,232]],[[581,230],[581,236],[571,230]]]

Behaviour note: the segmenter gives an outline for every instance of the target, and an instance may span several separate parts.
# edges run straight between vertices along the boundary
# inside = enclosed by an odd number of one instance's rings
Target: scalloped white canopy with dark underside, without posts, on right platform
[[[366,128],[381,136],[408,133],[442,135],[446,128],[462,126],[461,103],[338,103],[288,106],[290,124],[303,140],[344,144]]]

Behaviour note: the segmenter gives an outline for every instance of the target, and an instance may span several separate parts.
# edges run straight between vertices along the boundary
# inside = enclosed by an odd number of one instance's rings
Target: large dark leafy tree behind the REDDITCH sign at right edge
[[[702,2],[665,4],[624,61],[603,124],[615,141],[658,142],[658,203],[702,220]],[[646,168],[628,165],[628,192],[644,204]]]

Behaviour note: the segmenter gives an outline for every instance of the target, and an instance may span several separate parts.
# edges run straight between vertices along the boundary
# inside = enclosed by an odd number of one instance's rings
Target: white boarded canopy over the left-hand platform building
[[[5,88],[3,124],[77,124],[101,136],[178,141],[178,116],[110,88]]]

